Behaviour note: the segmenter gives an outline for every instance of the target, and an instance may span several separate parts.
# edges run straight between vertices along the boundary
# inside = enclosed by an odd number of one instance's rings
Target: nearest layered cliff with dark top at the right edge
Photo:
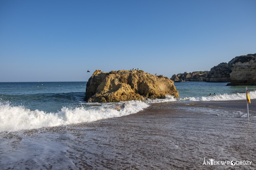
[[[256,85],[256,54],[235,57],[228,64],[232,72],[227,86]]]

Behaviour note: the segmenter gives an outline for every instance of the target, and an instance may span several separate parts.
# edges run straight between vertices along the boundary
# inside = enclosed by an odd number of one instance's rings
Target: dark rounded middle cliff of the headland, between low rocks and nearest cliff
[[[218,66],[211,68],[207,75],[206,82],[230,82],[231,67],[228,63],[220,63]]]

